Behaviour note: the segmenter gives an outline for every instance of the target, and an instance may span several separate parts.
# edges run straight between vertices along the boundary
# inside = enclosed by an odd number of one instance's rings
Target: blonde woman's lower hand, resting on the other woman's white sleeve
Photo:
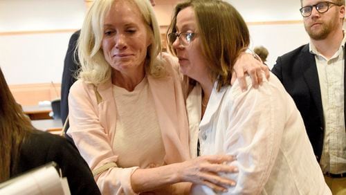
[[[226,155],[200,156],[183,163],[176,164],[178,182],[187,181],[194,184],[206,185],[215,192],[226,192],[235,185],[234,180],[219,176],[221,173],[236,173],[237,167],[226,165],[235,158]]]

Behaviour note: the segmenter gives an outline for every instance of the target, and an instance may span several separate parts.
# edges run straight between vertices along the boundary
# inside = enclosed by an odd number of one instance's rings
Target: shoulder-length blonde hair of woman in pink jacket
[[[129,1],[138,7],[152,39],[152,44],[147,50],[145,70],[149,75],[161,77],[165,73],[165,68],[156,59],[161,53],[160,28],[149,0],[96,0],[86,14],[76,48],[81,65],[79,78],[97,85],[111,77],[111,66],[104,59],[101,44],[104,17],[116,1]]]

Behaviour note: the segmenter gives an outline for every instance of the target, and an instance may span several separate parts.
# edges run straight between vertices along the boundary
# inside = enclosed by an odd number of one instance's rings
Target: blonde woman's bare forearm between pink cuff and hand
[[[147,192],[181,182],[179,163],[155,167],[151,169],[136,169],[131,176],[131,186],[134,192]]]

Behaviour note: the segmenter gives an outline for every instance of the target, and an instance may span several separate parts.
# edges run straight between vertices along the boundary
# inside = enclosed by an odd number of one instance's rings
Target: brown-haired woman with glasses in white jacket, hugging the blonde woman
[[[236,181],[225,194],[331,194],[300,113],[277,77],[258,89],[250,84],[242,91],[239,82],[230,86],[235,59],[250,43],[233,6],[218,0],[179,3],[168,32],[191,89],[186,106],[201,156],[236,158],[229,165],[239,172],[221,174]],[[195,185],[192,192],[215,194],[206,185]]]

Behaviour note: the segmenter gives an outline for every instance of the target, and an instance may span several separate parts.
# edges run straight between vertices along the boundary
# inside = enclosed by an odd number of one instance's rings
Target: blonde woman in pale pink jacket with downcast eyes
[[[67,134],[102,194],[185,194],[191,183],[222,192],[234,185],[218,174],[236,171],[224,165],[232,156],[190,160],[187,95],[160,37],[148,0],[94,1],[84,19]]]

